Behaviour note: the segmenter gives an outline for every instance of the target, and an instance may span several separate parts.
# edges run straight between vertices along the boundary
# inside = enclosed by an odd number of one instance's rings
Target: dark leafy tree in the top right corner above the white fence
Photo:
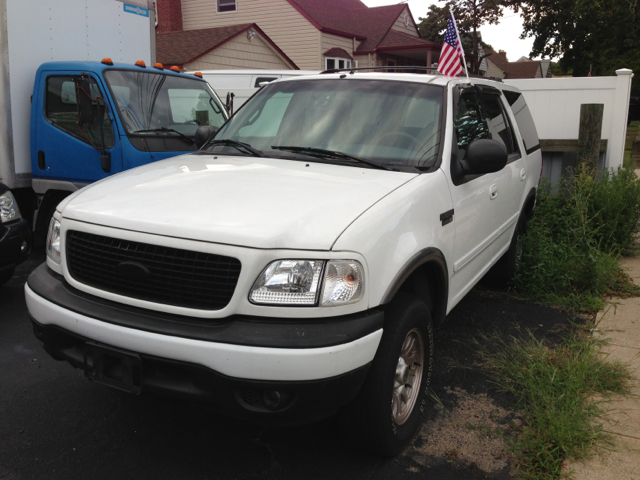
[[[512,7],[524,19],[522,38],[534,38],[531,54],[559,58],[574,76],[590,68],[592,75],[640,69],[639,0],[523,0]]]

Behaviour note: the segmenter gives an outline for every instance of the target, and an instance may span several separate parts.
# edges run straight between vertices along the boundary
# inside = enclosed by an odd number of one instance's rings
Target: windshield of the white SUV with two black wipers
[[[429,168],[439,151],[443,94],[440,86],[399,81],[279,82],[247,102],[215,140],[242,142],[269,156],[322,149],[377,164]],[[229,148],[213,143],[208,150]]]

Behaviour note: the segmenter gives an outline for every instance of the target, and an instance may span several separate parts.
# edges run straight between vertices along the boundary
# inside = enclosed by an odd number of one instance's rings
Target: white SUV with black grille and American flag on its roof
[[[273,82],[200,151],[58,206],[25,286],[35,335],[96,382],[263,423],[340,411],[397,454],[428,408],[432,324],[513,274],[541,161],[497,81]]]

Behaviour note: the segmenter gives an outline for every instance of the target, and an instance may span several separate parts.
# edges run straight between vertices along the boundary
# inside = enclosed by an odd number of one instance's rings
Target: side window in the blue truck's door
[[[45,98],[45,116],[47,120],[56,128],[92,145],[101,148],[102,135],[100,132],[100,121],[98,116],[98,105],[103,113],[102,128],[104,130],[105,148],[113,148],[115,137],[111,119],[105,110],[102,93],[93,78],[89,80],[92,98],[93,123],[89,125],[78,125],[78,106],[76,101],[76,89],[73,77],[48,77],[47,91]],[[99,98],[100,97],[100,98]]]

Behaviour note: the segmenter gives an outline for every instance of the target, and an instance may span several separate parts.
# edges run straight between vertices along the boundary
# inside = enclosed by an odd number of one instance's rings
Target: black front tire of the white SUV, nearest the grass
[[[396,369],[401,369],[400,356],[406,346],[405,340],[409,338],[410,343],[418,336],[422,338],[423,353],[420,382],[417,386],[416,376],[402,375],[404,382],[413,382],[417,388],[398,387],[409,392],[407,404],[412,406],[405,410],[404,421],[398,423],[396,418],[402,417],[399,414],[402,409],[394,414],[394,394],[398,391],[394,385]],[[419,369],[414,366],[415,363],[409,370]],[[422,424],[432,367],[433,327],[429,309],[418,298],[398,293],[385,312],[384,333],[367,379],[356,399],[341,412],[341,426],[347,437],[358,448],[376,455],[391,457],[402,452]]]

